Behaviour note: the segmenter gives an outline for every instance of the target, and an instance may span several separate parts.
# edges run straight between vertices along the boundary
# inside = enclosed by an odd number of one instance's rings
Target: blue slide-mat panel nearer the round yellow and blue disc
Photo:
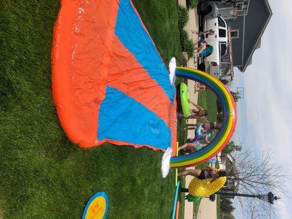
[[[171,145],[172,132],[161,118],[110,86],[100,105],[98,124],[98,140],[112,139],[162,149]]]

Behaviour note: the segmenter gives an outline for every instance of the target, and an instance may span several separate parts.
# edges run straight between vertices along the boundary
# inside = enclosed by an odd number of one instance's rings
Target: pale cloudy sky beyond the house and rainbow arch
[[[269,3],[273,16],[261,38],[261,47],[244,73],[235,70],[235,79],[229,85],[231,91],[244,87],[244,98],[237,103],[233,140],[258,154],[273,149],[275,162],[289,169],[292,166],[292,0],[269,0]],[[292,197],[292,183],[288,183],[288,191]],[[280,205],[278,217],[290,218],[292,199]],[[241,218],[238,212],[235,216]]]

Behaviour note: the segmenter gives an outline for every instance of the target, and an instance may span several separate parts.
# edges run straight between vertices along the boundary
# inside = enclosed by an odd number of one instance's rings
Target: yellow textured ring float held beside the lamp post
[[[188,191],[192,196],[205,197],[217,192],[226,182],[226,177],[219,177],[210,183],[212,179],[199,180],[197,177],[190,182]]]

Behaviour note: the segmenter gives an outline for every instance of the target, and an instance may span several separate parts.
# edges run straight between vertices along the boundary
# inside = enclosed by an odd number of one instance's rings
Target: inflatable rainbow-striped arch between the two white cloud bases
[[[175,73],[177,77],[195,80],[208,86],[209,89],[217,94],[223,107],[223,122],[221,128],[210,144],[194,153],[175,156],[170,159],[171,168],[181,168],[198,165],[209,160],[228,144],[236,126],[237,111],[231,93],[217,78],[197,69],[184,67],[177,67]]]

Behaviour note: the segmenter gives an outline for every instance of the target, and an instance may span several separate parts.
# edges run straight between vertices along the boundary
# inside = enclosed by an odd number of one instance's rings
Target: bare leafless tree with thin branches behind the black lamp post
[[[269,191],[281,198],[287,197],[286,182],[289,182],[287,169],[274,162],[273,152],[263,152],[261,159],[252,150],[238,152],[233,173],[228,175],[229,181],[238,184],[238,192],[244,194],[262,194]],[[271,205],[257,198],[237,197],[245,218],[269,219],[274,216],[277,203]]]

